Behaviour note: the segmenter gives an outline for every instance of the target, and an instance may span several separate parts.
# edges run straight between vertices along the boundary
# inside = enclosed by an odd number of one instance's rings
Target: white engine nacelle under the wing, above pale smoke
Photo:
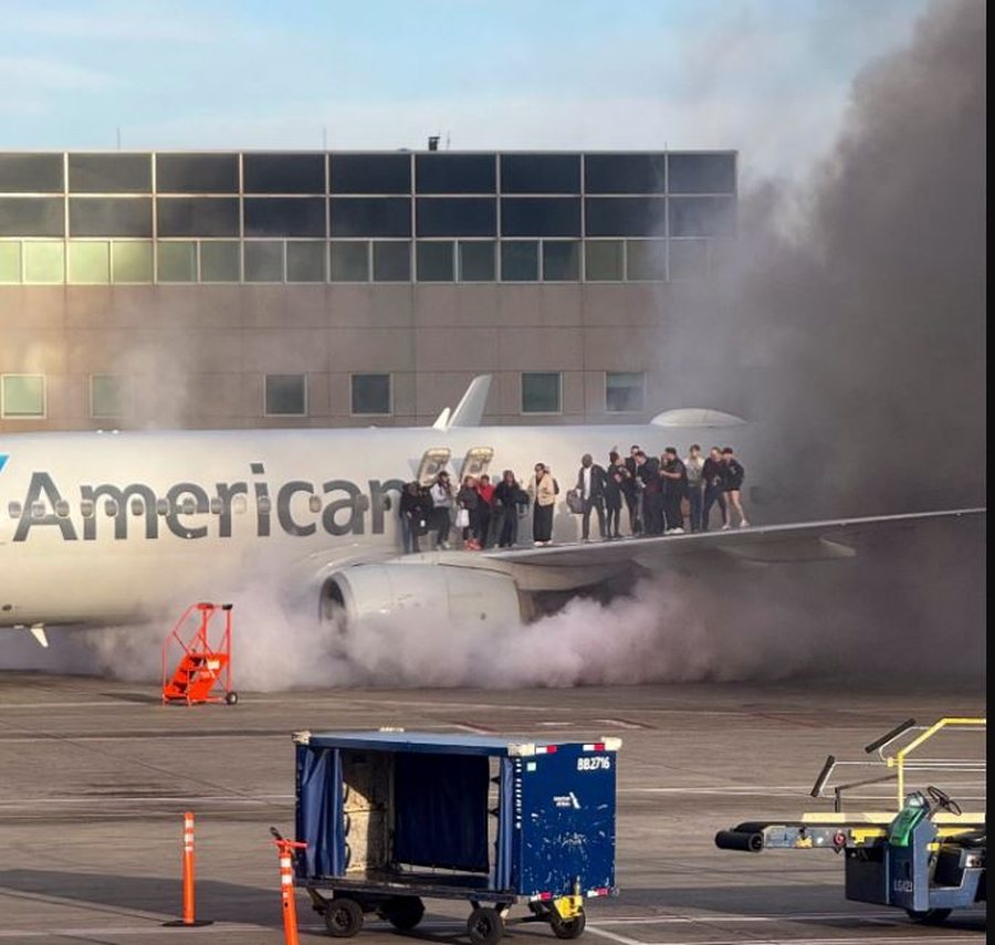
[[[510,627],[523,618],[511,577],[446,565],[355,565],[322,586],[322,613],[343,619],[350,631],[364,621],[410,613],[419,622],[490,623]]]

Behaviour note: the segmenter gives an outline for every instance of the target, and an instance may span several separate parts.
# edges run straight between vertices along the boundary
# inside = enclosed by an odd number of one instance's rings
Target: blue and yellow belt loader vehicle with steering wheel
[[[715,834],[724,850],[828,849],[845,858],[846,896],[857,902],[904,909],[917,922],[943,922],[953,910],[987,901],[987,831],[985,812],[964,811],[950,795],[928,785],[909,790],[912,775],[943,769],[960,778],[965,790],[977,787],[963,778],[984,774],[986,763],[975,754],[968,758],[924,758],[919,748],[946,731],[984,733],[984,718],[943,718],[931,726],[909,720],[867,746],[877,752],[888,774],[865,778],[834,789],[831,812],[806,813],[797,821],[751,821]],[[909,741],[909,736],[914,737]],[[888,746],[900,743],[894,754]],[[829,756],[811,790],[821,797],[832,771],[840,764]],[[866,763],[863,763],[866,764]],[[844,810],[844,798],[855,789],[896,781],[898,809]],[[983,790],[984,784],[981,783]],[[976,799],[976,798],[974,798]]]

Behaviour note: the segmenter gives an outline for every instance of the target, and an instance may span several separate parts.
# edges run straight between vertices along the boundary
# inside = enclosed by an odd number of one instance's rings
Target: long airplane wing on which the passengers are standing
[[[678,564],[693,555],[722,555],[756,564],[827,560],[853,557],[850,544],[886,529],[917,528],[928,522],[981,518],[985,508],[957,508],[866,518],[835,518],[769,525],[729,532],[698,532],[615,542],[507,548],[485,552],[484,557],[513,565],[543,568],[611,567],[636,563],[646,567]]]

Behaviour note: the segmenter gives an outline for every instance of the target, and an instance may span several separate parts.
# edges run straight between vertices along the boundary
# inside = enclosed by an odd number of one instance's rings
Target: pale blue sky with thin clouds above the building
[[[736,148],[796,172],[926,0],[0,0],[0,148]]]

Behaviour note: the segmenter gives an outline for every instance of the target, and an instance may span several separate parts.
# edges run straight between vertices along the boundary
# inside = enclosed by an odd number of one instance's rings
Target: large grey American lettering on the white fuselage
[[[0,455],[0,470],[7,459]],[[177,482],[161,494],[140,482],[81,485],[77,496],[67,497],[51,473],[33,472],[24,501],[8,503],[7,511],[18,523],[14,542],[27,542],[34,529],[50,534],[55,529],[66,542],[95,542],[98,532],[107,535],[113,529],[114,539],[124,540],[136,531],[133,518],[142,523],[149,540],[166,532],[187,539],[231,538],[235,532],[265,538],[276,529],[294,537],[320,529],[328,535],[363,535],[367,514],[371,534],[379,535],[390,508],[388,493],[400,493],[405,486],[398,479],[368,480],[365,491],[345,479],[271,485],[263,463],[251,463],[250,473],[242,481],[212,486]],[[237,525],[241,517],[245,523]],[[103,527],[101,519],[106,522]]]

